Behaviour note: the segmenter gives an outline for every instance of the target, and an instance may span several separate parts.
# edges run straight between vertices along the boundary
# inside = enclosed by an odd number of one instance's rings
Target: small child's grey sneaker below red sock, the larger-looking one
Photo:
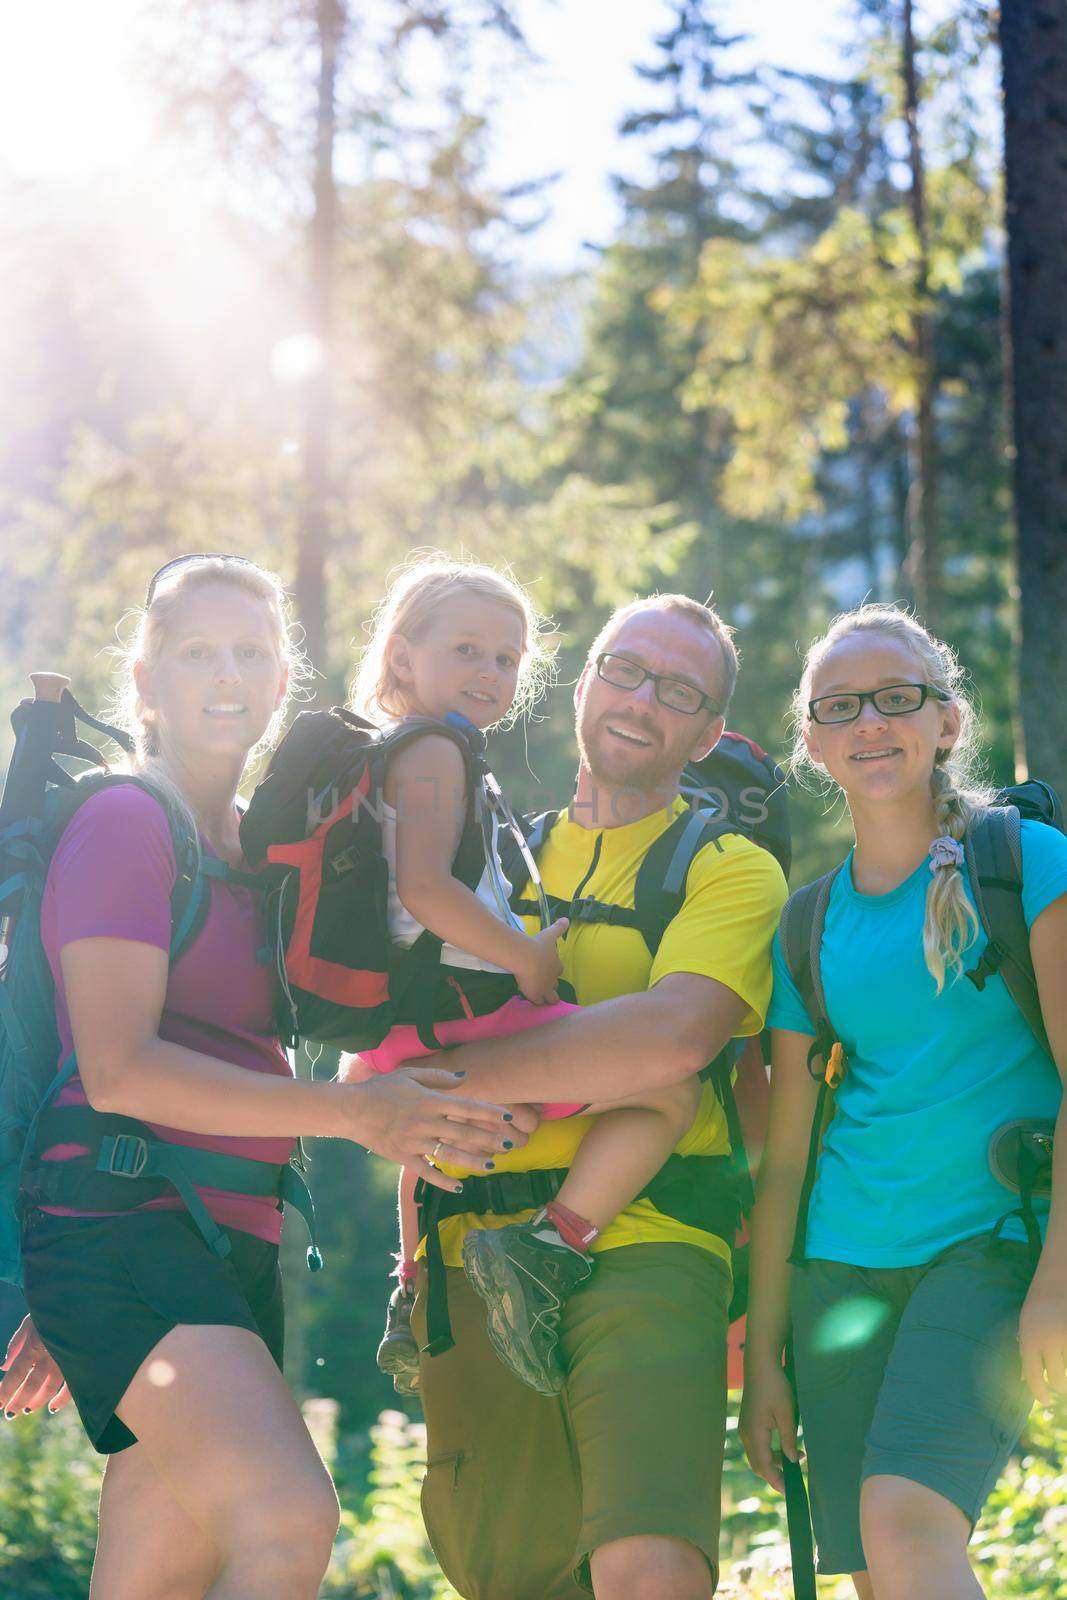
[[[560,1360],[560,1312],[593,1264],[565,1245],[549,1221],[477,1227],[464,1238],[464,1272],[490,1307],[493,1349],[517,1378],[555,1395],[566,1373]]]

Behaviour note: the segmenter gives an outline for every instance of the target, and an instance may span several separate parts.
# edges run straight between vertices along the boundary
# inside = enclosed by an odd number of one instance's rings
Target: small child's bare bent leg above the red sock
[[[590,1106],[598,1118],[582,1139],[557,1205],[605,1229],[656,1176],[696,1117],[701,1080],[686,1078],[632,1099]]]

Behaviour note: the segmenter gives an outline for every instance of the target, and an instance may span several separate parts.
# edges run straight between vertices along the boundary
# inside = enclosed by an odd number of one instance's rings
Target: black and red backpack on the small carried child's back
[[[435,1050],[434,1022],[461,1014],[462,1000],[480,1014],[517,992],[509,973],[472,971],[459,998],[442,982],[434,933],[426,930],[410,949],[389,936],[386,766],[427,733],[450,738],[464,760],[467,816],[453,874],[474,890],[493,819],[506,830],[515,822],[485,763],[485,738],[466,717],[408,717],[382,730],[341,707],[302,712],[251,797],[242,848],[267,885],[282,1030],[291,1043],[373,1050],[390,1027],[410,1022]]]

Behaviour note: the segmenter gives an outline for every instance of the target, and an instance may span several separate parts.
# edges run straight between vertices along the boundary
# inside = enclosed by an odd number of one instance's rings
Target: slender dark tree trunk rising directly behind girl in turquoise
[[[913,3],[904,0],[904,117],[907,122],[907,155],[912,171],[909,194],[912,226],[918,250],[915,262],[915,318],[912,341],[915,350],[917,419],[915,419],[915,493],[913,570],[918,606],[931,627],[941,626],[941,550],[937,530],[937,440],[934,435],[934,325],[928,309],[929,242],[926,237],[926,174],[918,130],[918,72],[915,67]]]

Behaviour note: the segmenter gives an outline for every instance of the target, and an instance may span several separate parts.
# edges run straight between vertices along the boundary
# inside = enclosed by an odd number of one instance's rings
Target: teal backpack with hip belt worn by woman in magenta
[[[35,699],[11,715],[14,750],[0,802],[0,1278],[21,1285],[21,1234],[27,1206],[126,1211],[163,1195],[181,1197],[205,1242],[227,1256],[230,1240],[210,1216],[197,1186],[242,1195],[277,1195],[304,1216],[309,1267],[322,1266],[315,1214],[298,1165],[168,1144],[131,1117],[91,1106],[56,1106],[74,1077],[70,1053],[59,1062],[54,987],[40,938],[40,909],[53,851],[75,811],[115,784],[134,784],[166,813],[178,862],[171,898],[171,966],[197,938],[210,909],[211,882],[259,888],[256,878],[203,856],[187,819],[139,778],[110,773],[78,736],[78,723],[131,750],[131,739],[75,701],[67,680],[37,674]],[[74,778],[62,760],[91,763]],[[40,1149],[80,1144],[85,1155],[42,1162]]]

